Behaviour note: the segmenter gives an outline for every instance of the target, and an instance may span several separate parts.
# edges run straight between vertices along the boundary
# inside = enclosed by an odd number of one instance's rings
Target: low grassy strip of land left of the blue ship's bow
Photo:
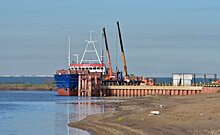
[[[0,84],[0,90],[55,91],[54,84]]]

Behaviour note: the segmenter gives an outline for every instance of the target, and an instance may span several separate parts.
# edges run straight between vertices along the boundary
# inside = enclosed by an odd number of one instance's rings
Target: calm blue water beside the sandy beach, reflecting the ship
[[[67,123],[114,110],[97,105],[100,101],[56,92],[0,91],[0,135],[88,135]]]

